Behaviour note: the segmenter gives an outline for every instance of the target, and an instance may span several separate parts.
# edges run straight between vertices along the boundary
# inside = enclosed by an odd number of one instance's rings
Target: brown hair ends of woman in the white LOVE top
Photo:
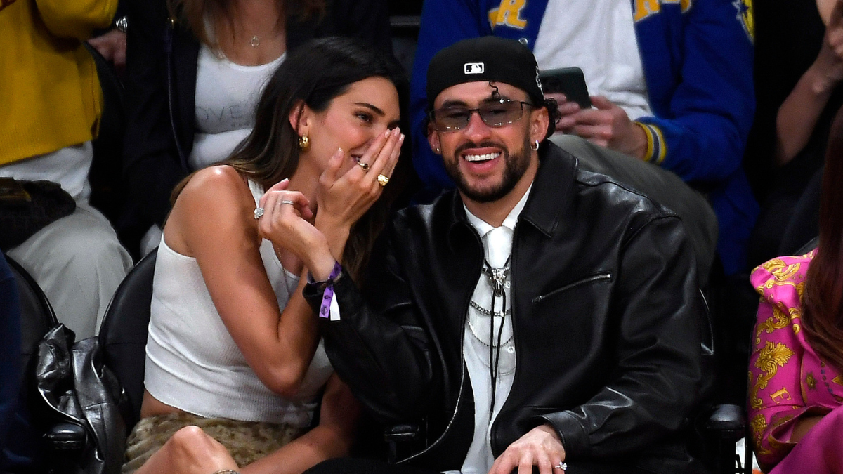
[[[297,15],[301,19],[325,14],[325,0],[296,0],[294,2],[276,0],[276,7],[277,24],[282,24],[286,13]],[[171,18],[179,19],[187,24],[191,33],[213,50],[217,50],[219,44],[216,39],[208,35],[206,21],[214,25],[226,21],[231,30],[234,30],[230,0],[168,0],[167,8]]]

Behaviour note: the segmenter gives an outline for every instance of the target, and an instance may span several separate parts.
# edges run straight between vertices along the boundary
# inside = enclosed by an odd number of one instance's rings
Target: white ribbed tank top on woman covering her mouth
[[[249,181],[255,205],[263,189]],[[298,277],[278,261],[269,240],[260,257],[282,310]],[[333,372],[322,342],[293,400],[270,391],[258,379],[220,319],[196,259],[158,247],[144,385],[167,405],[202,417],[289,423],[307,427],[315,397]]]

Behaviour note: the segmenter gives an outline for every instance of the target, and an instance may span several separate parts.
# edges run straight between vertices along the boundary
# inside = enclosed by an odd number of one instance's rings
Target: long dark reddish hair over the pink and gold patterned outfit
[[[831,125],[819,202],[819,246],[805,277],[802,326],[813,350],[843,370],[843,108]]]

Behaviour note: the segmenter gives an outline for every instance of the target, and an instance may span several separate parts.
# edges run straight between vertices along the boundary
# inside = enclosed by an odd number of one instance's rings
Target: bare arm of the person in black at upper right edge
[[[843,3],[835,2],[823,45],[776,115],[776,163],[786,164],[808,144],[832,91],[843,79]]]

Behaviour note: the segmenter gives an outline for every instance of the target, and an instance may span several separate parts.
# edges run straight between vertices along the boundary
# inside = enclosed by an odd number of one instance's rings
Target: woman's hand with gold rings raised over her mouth
[[[374,139],[359,163],[342,175],[340,169],[345,157],[341,149],[337,150],[319,177],[316,194],[319,229],[351,229],[380,197],[384,186],[379,184],[378,176],[392,175],[403,142],[404,134],[399,128],[387,130]]]

